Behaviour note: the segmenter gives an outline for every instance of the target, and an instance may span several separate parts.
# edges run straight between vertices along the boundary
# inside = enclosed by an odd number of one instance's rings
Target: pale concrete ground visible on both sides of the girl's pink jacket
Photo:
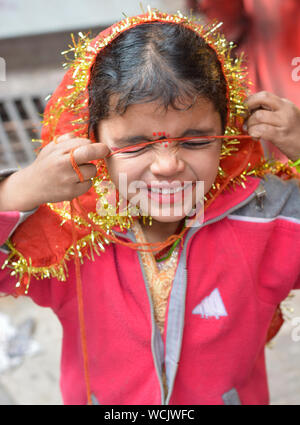
[[[297,293],[298,292],[298,293]],[[300,404],[300,291],[288,303],[291,319],[266,349],[271,404]],[[0,404],[61,405],[59,364],[61,327],[49,309],[29,299],[0,299],[0,311],[14,325],[31,317],[36,321],[33,335],[40,351],[23,363],[0,373]]]

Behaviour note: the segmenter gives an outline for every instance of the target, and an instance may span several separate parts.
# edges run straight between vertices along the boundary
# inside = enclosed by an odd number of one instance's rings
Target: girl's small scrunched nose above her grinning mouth
[[[178,157],[177,149],[161,146],[154,153],[150,170],[155,175],[172,177],[184,170],[184,162]]]

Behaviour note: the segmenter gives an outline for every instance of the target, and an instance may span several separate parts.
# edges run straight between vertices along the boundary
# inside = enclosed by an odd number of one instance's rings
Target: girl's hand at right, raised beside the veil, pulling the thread
[[[300,109],[287,99],[261,91],[248,97],[248,134],[273,143],[292,161],[300,158]]]

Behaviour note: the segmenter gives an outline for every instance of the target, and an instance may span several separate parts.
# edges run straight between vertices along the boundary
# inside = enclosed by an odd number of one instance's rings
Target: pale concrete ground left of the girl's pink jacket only
[[[33,318],[36,328],[33,339],[40,351],[26,356],[20,366],[0,373],[0,404],[62,404],[59,390],[61,326],[48,308],[42,308],[27,298],[0,299],[0,311],[17,326]]]

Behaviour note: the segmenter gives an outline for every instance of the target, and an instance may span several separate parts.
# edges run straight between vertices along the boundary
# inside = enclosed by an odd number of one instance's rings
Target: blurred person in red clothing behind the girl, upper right
[[[300,106],[299,0],[188,0],[205,20],[223,22],[222,31],[245,53],[252,92],[266,90]],[[270,153],[282,154],[265,142]]]

